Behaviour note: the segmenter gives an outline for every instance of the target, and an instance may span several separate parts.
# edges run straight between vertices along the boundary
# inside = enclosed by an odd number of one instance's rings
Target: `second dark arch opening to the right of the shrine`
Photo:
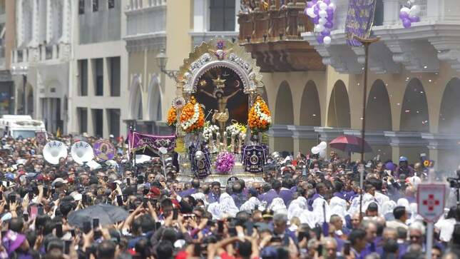
[[[320,96],[314,81],[308,81],[302,93],[300,125],[321,126]]]

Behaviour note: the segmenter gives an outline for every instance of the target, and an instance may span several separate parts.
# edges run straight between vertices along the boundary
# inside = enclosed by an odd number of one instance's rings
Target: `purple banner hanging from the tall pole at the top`
[[[347,21],[345,23],[348,45],[361,46],[361,42],[353,39],[353,36],[369,37],[374,23],[376,2],[377,0],[349,0]]]

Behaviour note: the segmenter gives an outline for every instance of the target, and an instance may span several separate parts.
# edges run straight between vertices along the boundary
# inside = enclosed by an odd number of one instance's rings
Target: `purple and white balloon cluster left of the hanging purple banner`
[[[334,11],[337,6],[331,0],[307,1],[305,14],[315,24],[314,32],[317,33],[317,41],[320,44],[331,44],[331,29],[334,27]]]

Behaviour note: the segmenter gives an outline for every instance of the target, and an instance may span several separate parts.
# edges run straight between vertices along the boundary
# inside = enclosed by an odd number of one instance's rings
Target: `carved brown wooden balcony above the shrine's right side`
[[[249,14],[238,14],[240,45],[257,59],[262,72],[323,71],[322,57],[300,34],[313,24],[303,13],[305,0],[271,0]]]

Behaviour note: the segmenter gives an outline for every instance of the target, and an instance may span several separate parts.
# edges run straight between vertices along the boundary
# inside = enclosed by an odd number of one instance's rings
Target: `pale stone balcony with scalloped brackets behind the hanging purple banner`
[[[347,46],[344,32],[349,0],[336,0],[334,29],[329,46],[317,42],[312,32],[302,33],[323,58],[339,73],[362,73],[364,48]],[[377,1],[372,36],[380,41],[369,48],[369,69],[374,73],[437,72],[442,61],[460,71],[460,5],[458,0],[417,0],[419,22],[404,28],[399,11],[407,1]]]

